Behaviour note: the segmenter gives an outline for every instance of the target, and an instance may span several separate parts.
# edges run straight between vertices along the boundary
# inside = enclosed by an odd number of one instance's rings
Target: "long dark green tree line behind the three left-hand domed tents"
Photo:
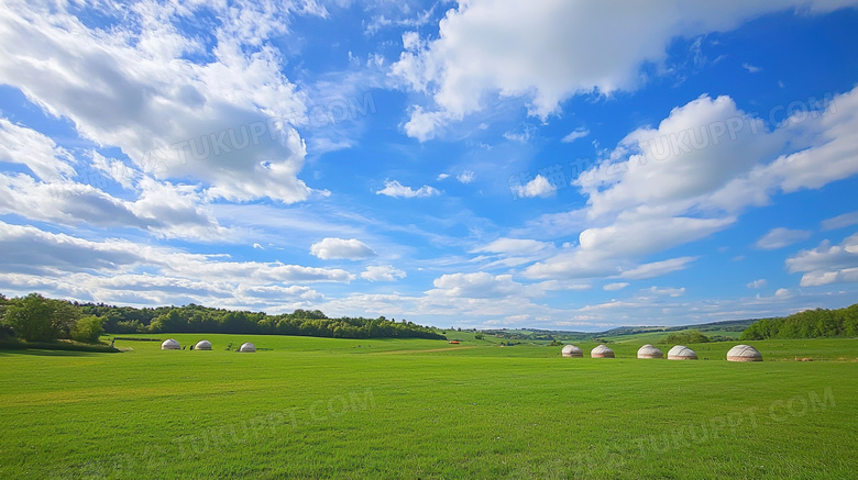
[[[85,328],[86,327],[86,328]],[[46,299],[36,293],[18,299],[0,295],[0,334],[26,341],[92,338],[94,330],[109,334],[232,333],[302,335],[334,338],[444,339],[432,328],[406,320],[329,319],[318,310],[268,315],[188,304],[135,309],[103,303]],[[98,335],[95,335],[96,339]],[[75,338],[75,339],[78,339]]]

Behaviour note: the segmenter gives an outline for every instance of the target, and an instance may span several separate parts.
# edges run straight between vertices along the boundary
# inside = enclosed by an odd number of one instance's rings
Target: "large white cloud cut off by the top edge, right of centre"
[[[408,42],[392,72],[438,108],[411,109],[406,132],[425,141],[449,122],[493,104],[492,97],[522,98],[531,114],[544,119],[574,94],[636,89],[642,83],[641,66],[662,64],[676,37],[729,31],[799,7],[824,13],[845,4],[854,2],[474,0],[447,12],[436,40]]]

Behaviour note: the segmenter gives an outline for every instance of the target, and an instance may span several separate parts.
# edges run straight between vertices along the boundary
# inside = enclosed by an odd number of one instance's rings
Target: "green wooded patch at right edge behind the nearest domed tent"
[[[858,303],[837,310],[805,310],[790,316],[762,319],[741,334],[743,341],[858,336]]]

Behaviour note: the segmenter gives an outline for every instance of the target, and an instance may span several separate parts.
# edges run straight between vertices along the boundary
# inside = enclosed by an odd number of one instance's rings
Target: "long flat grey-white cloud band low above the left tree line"
[[[317,308],[309,282],[349,282],[342,269],[231,261],[124,239],[89,241],[0,222],[0,290],[121,304],[199,303],[283,312]]]

